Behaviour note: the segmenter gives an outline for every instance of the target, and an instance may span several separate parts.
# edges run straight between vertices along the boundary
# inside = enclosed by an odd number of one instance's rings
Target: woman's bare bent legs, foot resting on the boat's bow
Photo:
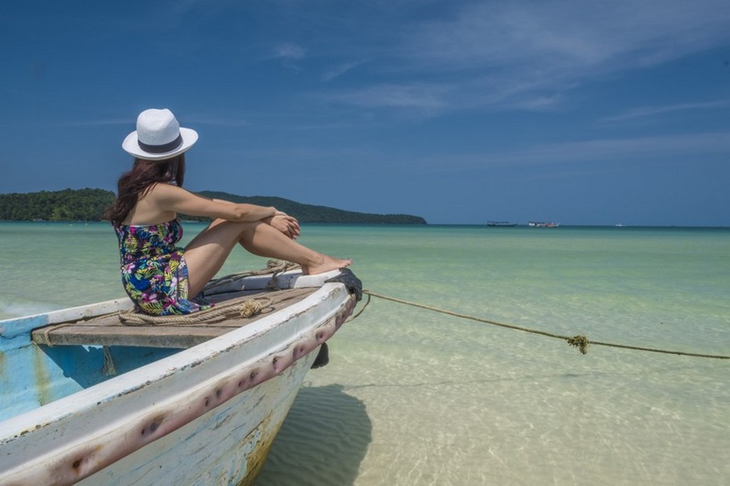
[[[215,220],[185,247],[191,296],[199,293],[218,273],[236,244],[254,255],[299,263],[304,274],[320,274],[352,263],[310,250],[261,221]]]

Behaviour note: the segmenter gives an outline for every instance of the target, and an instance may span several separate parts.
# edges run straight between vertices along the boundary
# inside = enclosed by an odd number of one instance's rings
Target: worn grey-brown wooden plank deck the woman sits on
[[[284,309],[291,304],[304,300],[317,288],[294,288],[288,290],[248,290],[206,297],[212,302],[226,301],[231,298],[249,296],[271,299],[269,306],[261,314],[252,317],[228,317],[211,322],[185,324],[143,324],[123,323],[118,312],[90,319],[48,325],[33,331],[32,339],[36,344],[48,346],[89,345],[89,346],[137,346],[188,348],[209,339],[255,322],[261,317]],[[215,309],[215,307],[214,307]]]

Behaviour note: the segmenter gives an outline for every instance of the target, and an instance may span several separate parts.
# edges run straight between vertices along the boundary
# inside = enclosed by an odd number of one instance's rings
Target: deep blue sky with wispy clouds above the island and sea
[[[0,193],[114,190],[166,107],[191,190],[730,225],[727,0],[5,0],[0,39]]]

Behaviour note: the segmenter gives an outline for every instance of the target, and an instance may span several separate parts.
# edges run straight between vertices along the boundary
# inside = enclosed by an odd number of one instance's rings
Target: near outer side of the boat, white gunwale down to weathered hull
[[[345,285],[325,284],[250,325],[4,420],[0,485],[253,481],[317,350],[354,306]],[[56,314],[93,314],[88,307]],[[12,322],[0,328],[15,336]]]

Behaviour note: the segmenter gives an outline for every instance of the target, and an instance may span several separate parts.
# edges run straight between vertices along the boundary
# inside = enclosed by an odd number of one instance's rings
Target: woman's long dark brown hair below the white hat
[[[175,182],[183,187],[185,178],[185,154],[181,153],[164,161],[134,159],[131,170],[122,174],[117,182],[117,198],[107,209],[107,217],[118,226],[127,217],[142,196],[158,182]]]

